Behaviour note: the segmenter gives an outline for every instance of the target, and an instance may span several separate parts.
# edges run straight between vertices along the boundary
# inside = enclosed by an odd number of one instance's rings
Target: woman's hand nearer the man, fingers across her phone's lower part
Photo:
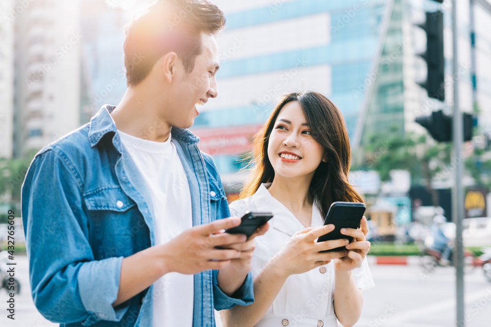
[[[276,253],[265,269],[274,267],[283,276],[302,274],[325,265],[334,258],[346,255],[347,251],[321,252],[346,245],[345,239],[315,242],[315,240],[334,229],[333,225],[308,227],[295,233],[285,246]]]

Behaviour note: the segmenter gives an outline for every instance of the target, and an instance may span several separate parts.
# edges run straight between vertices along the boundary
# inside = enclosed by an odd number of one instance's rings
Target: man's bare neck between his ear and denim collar
[[[144,91],[128,88],[123,99],[111,112],[116,127],[144,140],[165,142],[172,126],[158,114],[156,103],[152,100],[153,97]]]

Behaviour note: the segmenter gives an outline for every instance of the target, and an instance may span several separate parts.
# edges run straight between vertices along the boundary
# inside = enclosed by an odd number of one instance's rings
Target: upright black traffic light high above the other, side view
[[[426,81],[418,84],[428,91],[429,97],[444,101],[443,13],[441,11],[427,12],[426,21],[418,26],[426,32],[426,51],[420,56],[428,66]]]

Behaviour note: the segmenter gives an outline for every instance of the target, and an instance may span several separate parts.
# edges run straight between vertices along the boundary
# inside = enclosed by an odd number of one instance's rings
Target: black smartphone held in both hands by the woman
[[[317,242],[324,242],[328,240],[338,240],[340,238],[346,238],[353,242],[353,237],[341,234],[341,228],[359,228],[361,224],[361,218],[365,213],[366,206],[361,202],[333,202],[327,211],[324,225],[334,225],[334,230],[330,233],[324,234],[317,239]],[[336,249],[326,250],[322,252],[343,251],[346,247],[339,247]]]

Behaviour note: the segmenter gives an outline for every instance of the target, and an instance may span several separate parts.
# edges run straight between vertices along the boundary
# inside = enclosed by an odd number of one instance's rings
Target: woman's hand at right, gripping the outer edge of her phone
[[[367,233],[368,224],[365,216],[361,219],[360,229],[341,229],[341,234],[353,236],[353,242],[346,245],[348,255],[334,260],[334,269],[337,272],[348,272],[361,266],[363,259],[370,251],[370,242],[366,239]]]

